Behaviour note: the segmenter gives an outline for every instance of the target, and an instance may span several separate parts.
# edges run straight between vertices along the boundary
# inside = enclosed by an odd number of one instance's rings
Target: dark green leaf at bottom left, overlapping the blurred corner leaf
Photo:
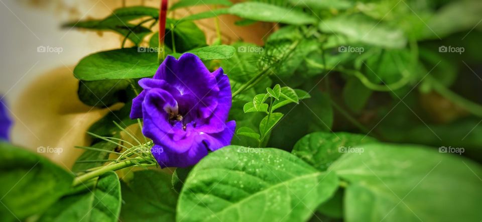
[[[83,185],[80,185],[83,186]],[[47,210],[44,221],[118,221],[121,211],[121,183],[114,172],[99,177],[95,188],[62,197]]]

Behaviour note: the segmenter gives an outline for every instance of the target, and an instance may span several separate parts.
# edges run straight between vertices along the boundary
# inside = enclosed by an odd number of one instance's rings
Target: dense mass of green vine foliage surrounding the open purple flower
[[[142,125],[129,119],[130,101],[139,93],[137,80],[152,76],[159,65],[158,53],[144,47],[159,46],[153,31],[159,11],[130,7],[102,20],[69,23],[66,27],[124,36],[122,48],[89,55],[74,70],[84,103],[124,106],[89,129],[95,140],[84,147],[73,173],[2,144],[7,154],[0,156],[0,178],[6,181],[0,186],[2,221],[482,218],[476,208],[482,200],[482,167],[470,160],[480,161],[482,153],[482,128],[475,118],[482,108],[472,101],[480,100],[473,96],[477,87],[457,76],[482,58],[436,53],[454,39],[466,38],[457,41],[461,47],[480,49],[482,7],[475,0],[183,0],[170,10],[204,4],[224,8],[168,19],[164,50],[176,57],[194,53],[209,68],[227,73],[233,92],[230,119],[237,127],[232,146],[194,167],[177,168],[172,176],[144,169],[119,180],[115,167],[155,165],[148,139],[133,145],[121,134]],[[193,21],[225,14],[242,18],[239,26],[268,22],[278,28],[264,46],[222,45],[220,38],[207,46]],[[128,40],[136,47],[127,48]],[[461,157],[386,142],[468,152]],[[79,182],[102,167],[112,171]]]

